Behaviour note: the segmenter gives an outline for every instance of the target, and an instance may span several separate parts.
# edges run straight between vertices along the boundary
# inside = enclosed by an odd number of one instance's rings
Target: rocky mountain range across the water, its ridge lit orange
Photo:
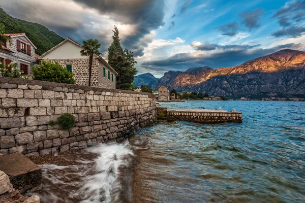
[[[285,49],[234,67],[195,67],[169,71],[151,88],[166,85],[177,91],[214,96],[305,98],[305,52]]]

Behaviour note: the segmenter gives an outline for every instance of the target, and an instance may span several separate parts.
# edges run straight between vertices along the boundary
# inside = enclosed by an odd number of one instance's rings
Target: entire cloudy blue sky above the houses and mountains
[[[282,49],[305,50],[305,1],[1,0],[11,16],[82,44],[98,39],[107,58],[114,25],[134,52],[138,75],[239,65]]]

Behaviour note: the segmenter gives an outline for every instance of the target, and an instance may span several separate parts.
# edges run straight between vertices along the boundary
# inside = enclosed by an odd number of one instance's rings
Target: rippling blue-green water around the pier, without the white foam
[[[305,202],[305,103],[186,101],[236,108],[242,123],[166,122],[130,139],[134,202]]]

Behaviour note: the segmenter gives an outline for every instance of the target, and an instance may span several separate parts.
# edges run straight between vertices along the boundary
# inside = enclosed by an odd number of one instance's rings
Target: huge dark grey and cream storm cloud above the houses
[[[143,55],[136,45],[164,24],[164,1],[159,0],[4,0],[1,6],[12,16],[43,24],[64,38],[79,43],[96,38],[102,52],[112,41],[114,25],[123,46]]]

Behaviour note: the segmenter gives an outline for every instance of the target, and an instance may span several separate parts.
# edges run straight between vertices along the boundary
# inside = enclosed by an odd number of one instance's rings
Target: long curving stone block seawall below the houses
[[[119,142],[156,121],[153,94],[35,80],[0,77],[0,104],[0,154],[48,155]],[[70,130],[48,125],[62,114],[75,117]]]

